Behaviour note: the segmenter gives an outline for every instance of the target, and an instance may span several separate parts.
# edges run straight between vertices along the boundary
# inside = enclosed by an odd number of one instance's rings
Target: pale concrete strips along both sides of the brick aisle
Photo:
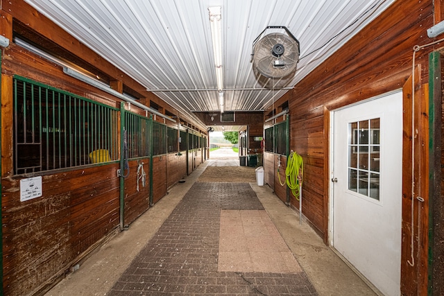
[[[219,152],[221,157],[218,157],[219,153],[212,153],[212,159],[186,177],[185,183],[173,186],[169,195],[146,211],[128,230],[96,250],[78,270],[67,275],[46,295],[107,295],[207,166],[239,165],[238,159],[230,159],[223,152]],[[250,186],[318,295],[376,295],[311,227],[299,224],[298,213],[282,203],[268,186],[255,183]]]

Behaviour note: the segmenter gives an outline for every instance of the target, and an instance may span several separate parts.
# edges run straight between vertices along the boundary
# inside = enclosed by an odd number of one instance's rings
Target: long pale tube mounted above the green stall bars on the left
[[[167,119],[167,120],[172,121],[174,123],[176,122],[174,119],[169,118],[169,116],[164,115],[160,112],[157,112],[157,111],[151,109],[150,107],[147,107],[146,105],[139,103],[139,102],[133,100],[132,98],[129,98],[128,96],[115,91],[114,89],[112,89],[108,85],[104,85],[102,82],[99,82],[97,80],[89,78],[88,76],[85,76],[83,73],[80,73],[80,72],[73,70],[71,68],[68,68],[68,67],[63,67],[63,73],[65,73],[71,77],[74,77],[80,81],[83,81],[89,85],[92,85],[93,87],[97,87],[98,89],[103,90],[103,92],[108,92],[108,94],[112,94],[112,96],[117,96],[117,98],[120,98],[123,101],[131,103],[139,108],[142,108],[142,110],[147,110],[148,112],[153,113],[157,116],[160,116],[164,119]]]

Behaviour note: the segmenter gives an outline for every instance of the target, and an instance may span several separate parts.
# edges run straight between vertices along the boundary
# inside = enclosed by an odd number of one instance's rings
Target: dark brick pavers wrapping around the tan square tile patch
[[[264,208],[248,183],[196,182],[108,295],[317,295],[302,271],[218,272],[223,209]]]

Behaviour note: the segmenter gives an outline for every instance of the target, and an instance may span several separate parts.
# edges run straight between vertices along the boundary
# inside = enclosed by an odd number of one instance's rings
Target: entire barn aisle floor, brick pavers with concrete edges
[[[238,164],[201,164],[46,295],[375,295]]]

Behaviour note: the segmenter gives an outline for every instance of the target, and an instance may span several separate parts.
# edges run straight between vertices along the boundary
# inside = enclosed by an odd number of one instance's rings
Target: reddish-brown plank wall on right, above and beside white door
[[[332,110],[402,88],[411,75],[413,46],[432,42],[426,30],[434,24],[433,2],[396,1],[302,79],[293,91],[287,92],[275,103],[282,105],[289,101],[290,147],[302,155],[305,164],[302,214],[323,236],[325,243],[328,242],[329,219],[330,119],[327,116]],[[433,46],[416,53],[416,64],[420,65],[419,76],[423,83],[427,82],[427,55],[432,50]],[[408,110],[405,112],[406,116],[411,116]],[[427,130],[426,122],[420,121],[420,125],[420,130]],[[416,159],[427,158],[423,149],[416,150],[416,154]],[[272,160],[267,155],[265,159],[267,162]],[[409,162],[407,166],[411,166],[411,160],[406,161]],[[427,173],[422,176],[421,182],[425,184],[423,178]],[[410,182],[407,179],[403,176],[404,182]],[[409,198],[403,200],[403,217],[410,220],[411,208],[405,202]],[[427,229],[427,221],[420,221],[420,229]],[[408,229],[403,231],[407,233]],[[404,238],[409,241],[409,236]],[[425,236],[419,238],[422,246],[427,245]],[[407,241],[403,241],[403,248],[406,243],[409,244]],[[424,274],[427,270],[427,254],[422,252],[423,248],[420,250],[414,254],[416,265],[413,267],[405,266],[409,258],[403,252],[402,264],[407,268],[402,272],[404,295],[424,295],[422,289],[427,286],[427,275]],[[416,283],[417,286],[411,289],[413,287],[409,283]]]

